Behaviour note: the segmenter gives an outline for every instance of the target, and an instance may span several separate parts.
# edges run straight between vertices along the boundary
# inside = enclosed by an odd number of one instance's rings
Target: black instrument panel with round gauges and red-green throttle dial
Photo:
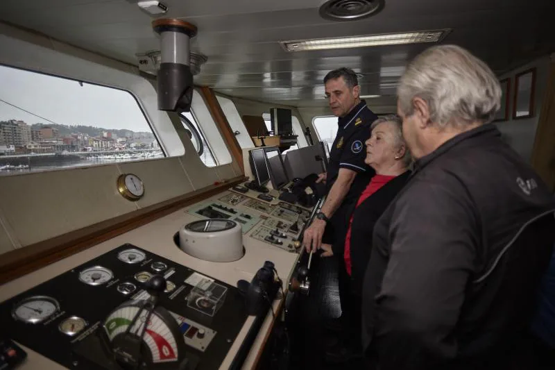
[[[248,317],[244,298],[236,287],[132,244],[1,303],[3,335],[69,369],[114,369],[100,360],[94,343],[99,333],[112,340],[130,328],[137,302],[150,297],[145,283],[156,274],[166,280],[158,302],[176,321],[186,357],[196,359],[195,369],[218,369]],[[215,289],[223,292],[217,301]],[[161,363],[171,362],[172,353],[177,358],[172,341],[180,339],[164,330],[167,317],[164,321],[153,314],[146,328],[145,346],[150,346],[153,363],[156,355],[166,356],[158,359]]]

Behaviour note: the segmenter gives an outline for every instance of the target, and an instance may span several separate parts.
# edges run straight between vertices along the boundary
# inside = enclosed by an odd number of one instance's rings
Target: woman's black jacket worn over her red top
[[[350,205],[350,210],[346,212],[347,225],[352,215],[350,241],[351,279],[353,290],[356,294],[361,293],[364,271],[366,271],[366,266],[368,266],[368,260],[370,259],[374,224],[382,216],[389,203],[393,201],[398,192],[404,187],[405,183],[407,183],[410,174],[411,171],[406,171],[404,174],[391,179],[384,186],[380,187],[377,192],[364,199],[358,207],[356,206],[358,201]]]

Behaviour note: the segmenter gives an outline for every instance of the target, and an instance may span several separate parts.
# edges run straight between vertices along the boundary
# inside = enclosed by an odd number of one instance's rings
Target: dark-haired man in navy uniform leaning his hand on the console
[[[364,142],[370,137],[370,125],[377,116],[360,99],[357,75],[351,69],[341,68],[328,73],[324,78],[325,95],[334,115],[339,117],[337,136],[330,151],[330,165],[327,173],[320,174],[327,196],[316,219],[305,230],[302,239],[307,251],[316,251],[322,244],[331,244],[334,256],[339,258],[339,292],[341,310],[350,310],[350,278],[343,263],[343,248],[347,221],[345,212],[356,202],[374,170],[364,163],[366,150]],[[341,289],[343,287],[343,289]]]

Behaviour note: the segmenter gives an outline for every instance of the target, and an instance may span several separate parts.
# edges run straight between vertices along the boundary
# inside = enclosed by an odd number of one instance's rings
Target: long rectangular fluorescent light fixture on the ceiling
[[[382,47],[385,45],[416,44],[418,42],[440,42],[450,32],[451,29],[446,28],[444,30],[436,31],[282,41],[280,44],[282,44],[282,47],[286,51],[343,49],[352,47]]]

